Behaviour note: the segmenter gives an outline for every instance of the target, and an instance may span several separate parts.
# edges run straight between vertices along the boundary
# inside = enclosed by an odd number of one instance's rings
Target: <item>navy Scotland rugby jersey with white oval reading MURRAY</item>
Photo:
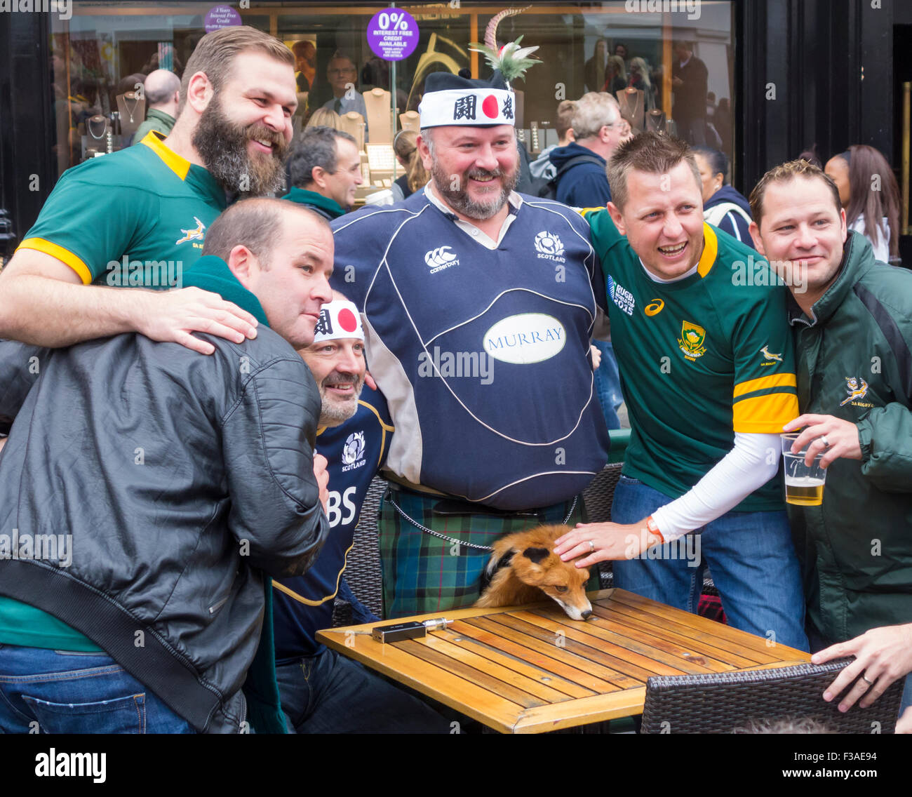
[[[607,459],[589,341],[586,222],[511,195],[496,249],[418,191],[332,223],[332,283],[361,310],[403,481],[500,509],[566,501]]]

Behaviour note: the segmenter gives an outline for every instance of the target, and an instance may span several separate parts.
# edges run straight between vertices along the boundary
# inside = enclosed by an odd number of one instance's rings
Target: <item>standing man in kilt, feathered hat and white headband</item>
[[[425,189],[332,223],[336,285],[397,429],[379,522],[388,617],[472,605],[483,546],[573,522],[607,459],[589,355],[598,260],[578,214],[513,191],[507,80],[531,50],[484,51],[490,80],[425,81]]]

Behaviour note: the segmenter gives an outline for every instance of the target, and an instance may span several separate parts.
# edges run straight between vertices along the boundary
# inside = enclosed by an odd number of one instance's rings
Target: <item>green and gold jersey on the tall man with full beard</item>
[[[153,131],[64,172],[19,249],[54,255],[85,285],[180,287],[225,206],[215,178]]]

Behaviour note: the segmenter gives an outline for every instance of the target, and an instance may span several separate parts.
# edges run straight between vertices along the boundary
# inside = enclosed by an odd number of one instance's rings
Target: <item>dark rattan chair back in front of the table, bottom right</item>
[[[852,660],[648,678],[640,733],[755,732],[749,729],[757,723],[806,719],[833,733],[893,733],[905,678],[868,709],[855,705],[843,714],[838,700],[824,701],[824,688]]]

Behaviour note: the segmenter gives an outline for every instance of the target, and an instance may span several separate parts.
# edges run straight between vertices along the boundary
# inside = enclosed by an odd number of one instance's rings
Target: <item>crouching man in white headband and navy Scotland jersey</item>
[[[320,309],[314,342],[298,352],[320,389],[316,450],[328,461],[330,532],[306,574],[273,581],[275,676],[285,724],[295,733],[448,733],[449,722],[419,699],[316,641],[318,630],[333,625],[337,597],[351,604],[351,622],[379,619],[361,606],[344,573],[361,504],[393,431],[386,401],[364,385],[358,307],[334,295]]]

